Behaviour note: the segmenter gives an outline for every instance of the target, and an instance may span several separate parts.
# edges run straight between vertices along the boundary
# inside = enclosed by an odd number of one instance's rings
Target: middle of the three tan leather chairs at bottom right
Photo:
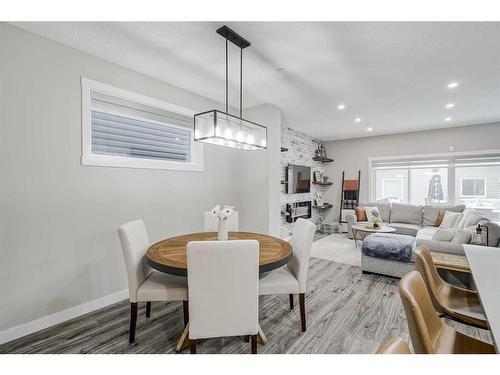
[[[493,345],[464,335],[443,323],[417,271],[399,282],[413,350],[417,354],[494,354]]]

